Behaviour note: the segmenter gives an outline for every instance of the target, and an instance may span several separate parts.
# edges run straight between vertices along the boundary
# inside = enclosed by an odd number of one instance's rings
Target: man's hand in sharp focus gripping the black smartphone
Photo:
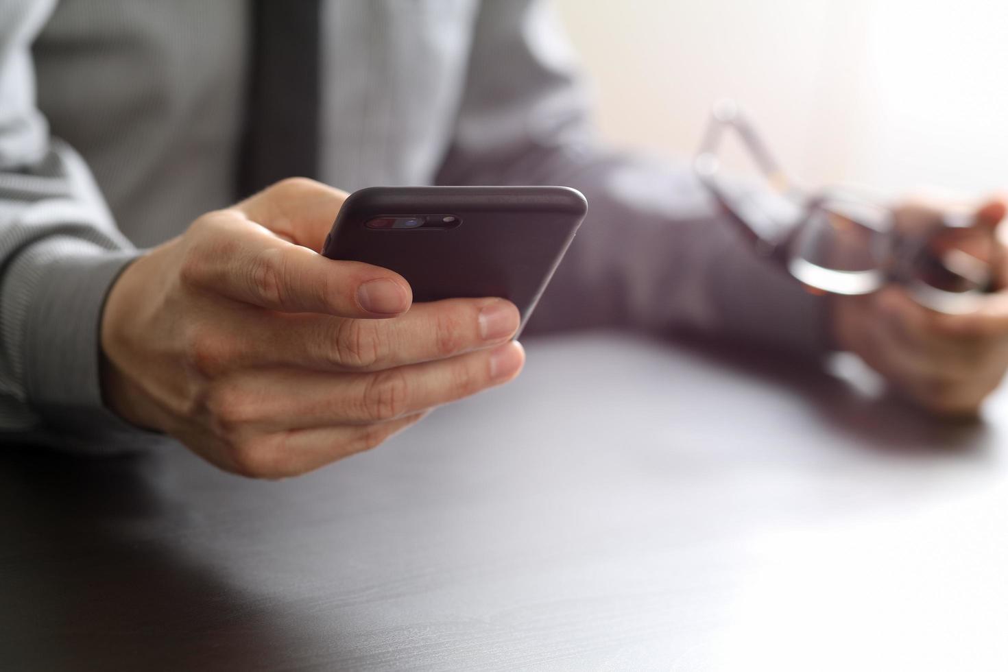
[[[102,319],[107,405],[222,468],[281,478],[513,379],[508,301],[411,306],[396,273],[314,252],[345,197],[284,180],[127,268]]]

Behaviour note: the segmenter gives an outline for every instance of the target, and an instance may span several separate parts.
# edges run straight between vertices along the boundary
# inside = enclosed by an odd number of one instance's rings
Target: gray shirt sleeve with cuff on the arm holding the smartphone
[[[0,432],[118,451],[152,437],[103,407],[99,378],[105,296],[138,253],[35,106],[30,47],[53,5],[0,0]]]

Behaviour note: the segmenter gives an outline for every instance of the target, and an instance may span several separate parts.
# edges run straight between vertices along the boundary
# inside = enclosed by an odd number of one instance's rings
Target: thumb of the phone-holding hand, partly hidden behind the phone
[[[310,250],[322,250],[347,192],[305,177],[290,177],[234,207],[252,222]]]

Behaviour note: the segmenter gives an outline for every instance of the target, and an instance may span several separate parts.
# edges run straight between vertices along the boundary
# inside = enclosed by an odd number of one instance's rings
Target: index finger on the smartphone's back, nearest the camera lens
[[[390,317],[412,301],[387,269],[326,259],[228,212],[194,224],[182,280],[236,301],[283,312]]]

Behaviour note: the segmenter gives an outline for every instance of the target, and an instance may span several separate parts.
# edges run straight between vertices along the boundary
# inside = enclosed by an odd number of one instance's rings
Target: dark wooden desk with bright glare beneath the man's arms
[[[944,425],[627,337],[528,355],[293,481],[5,450],[0,669],[1008,669],[1008,399]]]

